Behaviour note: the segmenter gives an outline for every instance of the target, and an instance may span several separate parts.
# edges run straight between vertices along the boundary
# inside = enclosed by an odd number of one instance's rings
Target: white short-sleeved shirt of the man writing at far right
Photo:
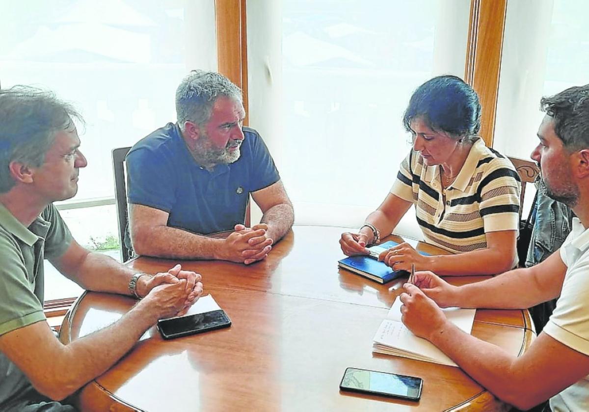
[[[573,230],[560,247],[567,265],[560,298],[544,332],[589,356],[589,230],[573,218]],[[589,376],[550,399],[553,411],[589,411]]]

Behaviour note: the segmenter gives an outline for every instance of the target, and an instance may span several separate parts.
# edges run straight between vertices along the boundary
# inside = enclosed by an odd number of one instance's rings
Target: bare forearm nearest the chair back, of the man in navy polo
[[[137,237],[140,237],[138,234]],[[140,255],[178,259],[220,259],[223,239],[206,237],[185,230],[157,226],[149,236],[134,238],[133,247]]]

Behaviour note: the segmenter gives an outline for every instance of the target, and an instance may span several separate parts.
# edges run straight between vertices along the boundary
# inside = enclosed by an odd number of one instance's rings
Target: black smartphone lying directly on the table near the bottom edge
[[[342,391],[392,396],[417,401],[421,397],[423,379],[415,376],[347,368],[339,388]]]

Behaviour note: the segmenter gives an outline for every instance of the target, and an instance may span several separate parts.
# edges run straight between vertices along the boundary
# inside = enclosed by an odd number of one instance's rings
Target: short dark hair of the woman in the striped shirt
[[[471,137],[481,128],[477,92],[461,78],[444,75],[429,79],[413,92],[403,115],[403,126],[421,118],[429,128],[454,138]]]

